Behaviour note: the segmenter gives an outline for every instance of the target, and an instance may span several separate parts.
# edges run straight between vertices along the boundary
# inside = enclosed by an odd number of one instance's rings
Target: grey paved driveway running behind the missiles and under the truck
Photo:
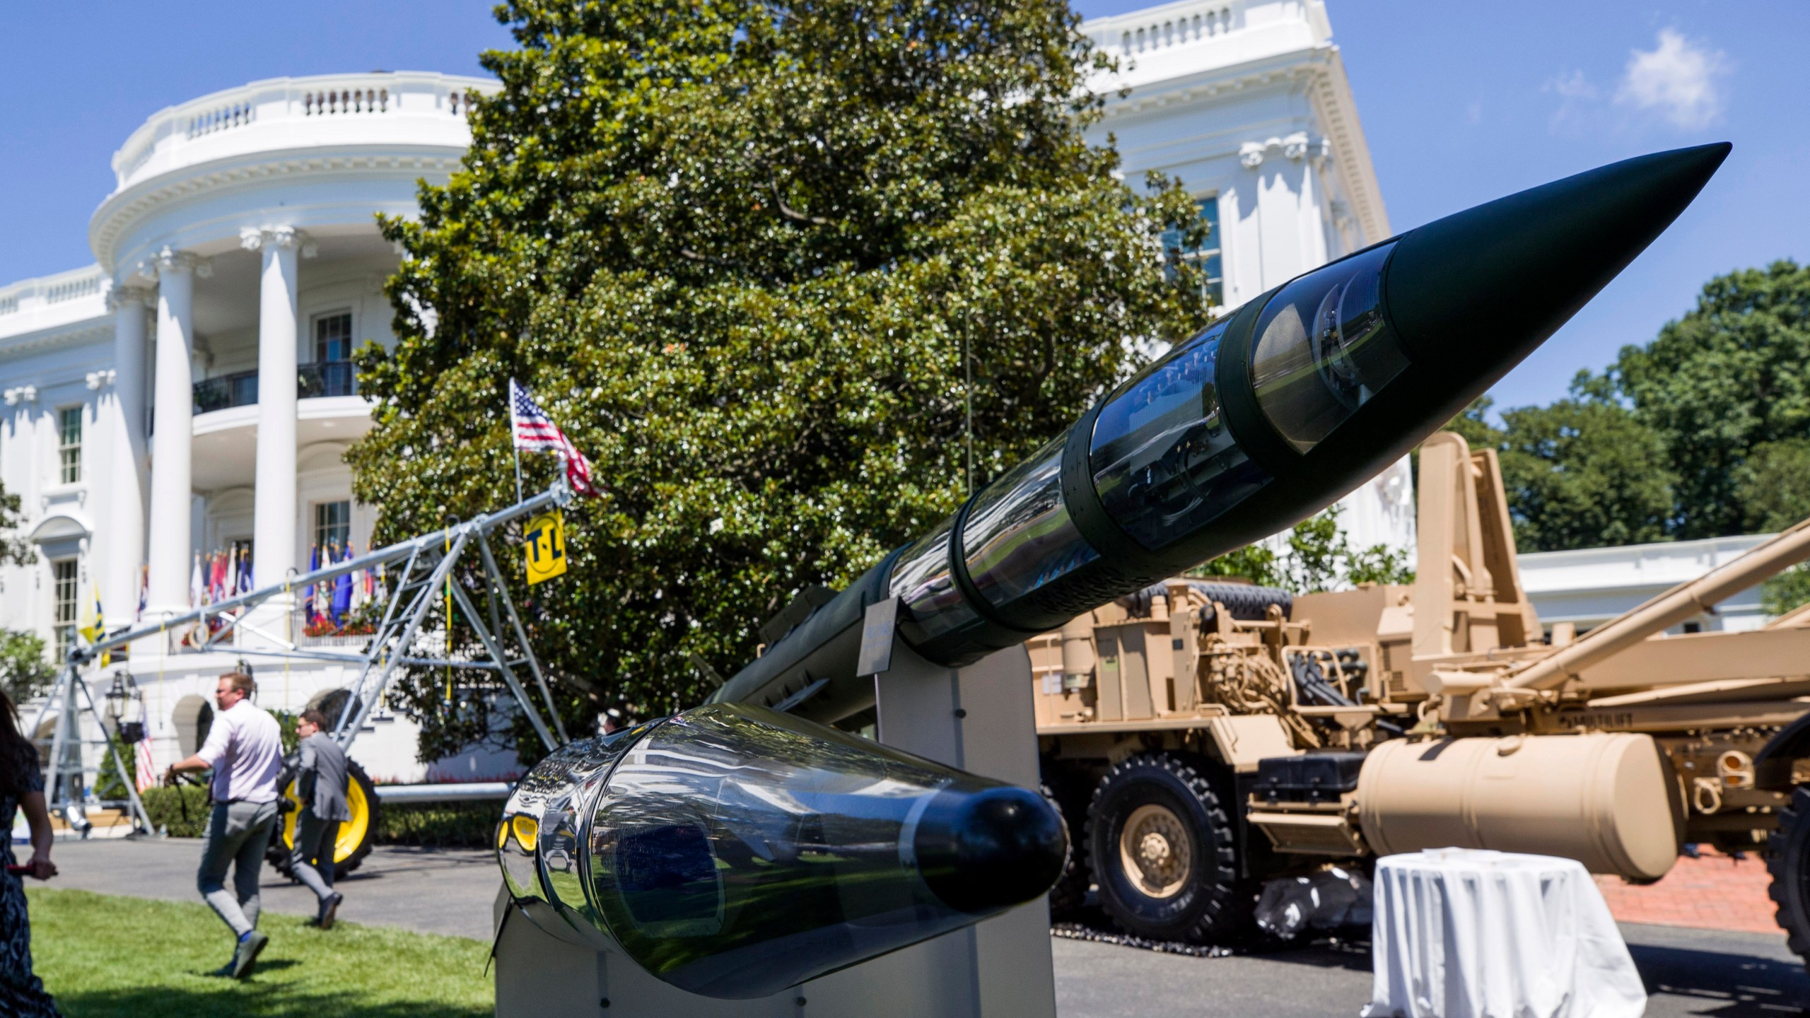
[[[51,886],[199,900],[201,842],[89,840],[56,846]],[[264,908],[313,915],[313,895],[264,869]],[[489,851],[378,848],[342,882],[340,917],[489,940],[498,873]],[[224,935],[224,927],[223,927]],[[1783,935],[1622,924],[1653,1002],[1647,1018],[1810,1014],[1810,975]],[[1137,947],[1053,940],[1061,1018],[1352,1016],[1370,998],[1365,944],[1269,955],[1189,958]]]

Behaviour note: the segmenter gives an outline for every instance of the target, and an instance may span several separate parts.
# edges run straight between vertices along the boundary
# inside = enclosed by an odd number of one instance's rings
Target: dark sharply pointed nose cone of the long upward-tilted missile
[[[1403,234],[1385,303],[1408,357],[1500,379],[1634,261],[1730,149],[1609,163]]]

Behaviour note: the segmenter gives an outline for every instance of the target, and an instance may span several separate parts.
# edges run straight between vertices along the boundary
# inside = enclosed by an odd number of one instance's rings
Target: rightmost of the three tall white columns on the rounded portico
[[[252,502],[252,574],[282,583],[295,567],[295,245],[290,226],[244,230],[264,252],[257,290],[257,489]]]

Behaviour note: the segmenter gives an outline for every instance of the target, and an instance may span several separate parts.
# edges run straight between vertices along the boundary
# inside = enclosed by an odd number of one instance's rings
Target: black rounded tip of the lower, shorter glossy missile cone
[[[938,792],[912,839],[936,897],[959,911],[992,911],[1044,895],[1068,860],[1068,826],[1024,788]]]

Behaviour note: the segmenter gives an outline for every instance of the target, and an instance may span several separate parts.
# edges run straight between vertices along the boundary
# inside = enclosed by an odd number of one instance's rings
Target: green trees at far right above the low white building
[[[1777,531],[1810,516],[1810,268],[1718,275],[1696,308],[1551,406],[1477,400],[1520,551]]]

